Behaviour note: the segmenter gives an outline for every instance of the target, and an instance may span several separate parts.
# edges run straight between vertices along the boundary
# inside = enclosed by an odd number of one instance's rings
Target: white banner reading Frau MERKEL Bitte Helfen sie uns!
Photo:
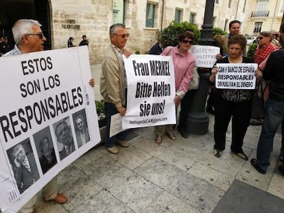
[[[130,55],[123,60],[128,82],[123,129],[176,123],[171,56]]]

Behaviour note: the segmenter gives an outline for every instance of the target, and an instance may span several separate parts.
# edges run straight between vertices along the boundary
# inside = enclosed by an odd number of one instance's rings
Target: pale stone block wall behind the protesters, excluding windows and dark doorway
[[[242,1],[242,0],[241,0]],[[190,12],[196,13],[196,24],[202,27],[205,0],[151,0],[156,3],[156,19],[154,28],[145,27],[147,1],[127,0],[126,27],[130,32],[127,47],[132,51],[147,53],[156,43],[159,29],[165,28],[174,20],[176,8],[182,9],[182,21],[189,21]],[[215,26],[224,27],[224,20],[232,20],[235,15],[233,0],[232,8],[226,10],[226,5],[215,5],[214,16],[217,17]],[[113,24],[112,0],[49,0],[51,11],[51,39],[54,49],[67,46],[69,37],[74,38],[74,45],[86,34],[89,41],[91,64],[102,62],[104,47],[109,44],[108,28]],[[163,24],[161,16],[163,14]],[[220,16],[220,17],[219,17]]]

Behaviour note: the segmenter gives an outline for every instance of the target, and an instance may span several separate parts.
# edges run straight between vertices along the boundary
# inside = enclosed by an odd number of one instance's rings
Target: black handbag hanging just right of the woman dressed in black
[[[259,92],[260,90],[260,92]],[[260,93],[260,97],[259,97]],[[264,99],[263,99],[263,90],[262,90],[262,84],[259,83],[259,86],[252,95],[252,107],[251,107],[251,118],[254,119],[263,119],[264,116]]]

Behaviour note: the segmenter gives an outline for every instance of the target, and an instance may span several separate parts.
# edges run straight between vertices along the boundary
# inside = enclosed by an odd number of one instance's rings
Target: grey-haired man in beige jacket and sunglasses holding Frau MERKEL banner
[[[117,154],[119,150],[115,142],[121,147],[129,147],[126,142],[126,131],[122,131],[110,138],[110,117],[114,114],[126,114],[126,73],[122,55],[129,56],[130,51],[126,50],[128,40],[126,25],[116,23],[110,26],[110,42],[106,47],[102,61],[102,74],[100,92],[104,97],[104,108],[106,110],[106,135],[105,146],[110,153]]]

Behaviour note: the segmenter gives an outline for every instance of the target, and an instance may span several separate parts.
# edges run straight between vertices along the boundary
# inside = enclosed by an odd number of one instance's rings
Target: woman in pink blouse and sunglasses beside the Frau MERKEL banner
[[[192,79],[193,67],[196,60],[192,53],[189,52],[193,44],[194,35],[187,32],[178,36],[178,46],[166,47],[161,55],[171,55],[174,62],[174,75],[176,83],[176,97],[174,103],[176,108],[180,104],[182,97],[185,96]],[[163,134],[166,134],[171,140],[176,140],[174,135],[174,125],[155,126],[155,142],[161,143]]]

